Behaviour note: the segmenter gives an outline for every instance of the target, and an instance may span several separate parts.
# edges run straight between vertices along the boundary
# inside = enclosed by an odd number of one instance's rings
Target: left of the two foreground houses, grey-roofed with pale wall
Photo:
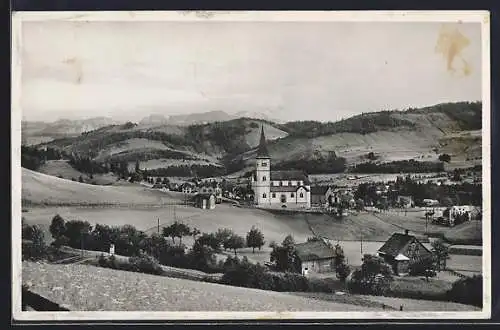
[[[335,271],[335,250],[324,240],[295,244],[302,274]]]

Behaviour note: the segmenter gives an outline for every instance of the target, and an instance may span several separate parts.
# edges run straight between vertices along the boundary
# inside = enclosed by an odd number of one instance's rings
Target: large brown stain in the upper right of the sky
[[[471,66],[462,56],[462,51],[469,44],[470,40],[457,27],[443,26],[441,28],[435,51],[445,58],[448,72],[464,76],[470,75]]]

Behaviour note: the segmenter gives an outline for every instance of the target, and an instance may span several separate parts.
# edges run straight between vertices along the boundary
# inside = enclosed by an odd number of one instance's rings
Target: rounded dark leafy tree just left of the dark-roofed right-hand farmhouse
[[[392,270],[378,256],[365,254],[361,269],[352,274],[349,288],[354,293],[383,295],[390,289]]]

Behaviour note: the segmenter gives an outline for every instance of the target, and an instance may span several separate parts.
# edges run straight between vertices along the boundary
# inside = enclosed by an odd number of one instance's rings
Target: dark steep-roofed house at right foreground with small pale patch
[[[428,262],[432,259],[429,251],[415,236],[405,233],[394,233],[377,251],[378,256],[392,266],[398,276],[408,275],[410,266]]]

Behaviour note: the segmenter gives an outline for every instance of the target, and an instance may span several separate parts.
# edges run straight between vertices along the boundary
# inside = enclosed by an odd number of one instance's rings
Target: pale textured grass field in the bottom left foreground
[[[23,283],[77,311],[367,311],[286,293],[231,287],[87,265],[23,263]]]

